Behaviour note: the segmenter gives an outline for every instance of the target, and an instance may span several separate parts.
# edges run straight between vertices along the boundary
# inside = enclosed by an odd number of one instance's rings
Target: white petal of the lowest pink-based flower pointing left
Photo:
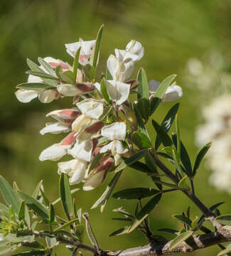
[[[65,154],[67,154],[67,149],[68,146],[60,146],[59,144],[53,144],[41,152],[39,160],[58,161],[63,156],[65,156]]]

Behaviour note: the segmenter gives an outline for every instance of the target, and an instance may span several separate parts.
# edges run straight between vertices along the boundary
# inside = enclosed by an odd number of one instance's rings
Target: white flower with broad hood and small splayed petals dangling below
[[[114,156],[115,165],[117,166],[121,155],[128,151],[128,149],[124,149],[122,144],[122,141],[124,141],[126,137],[126,124],[124,124],[124,122],[114,122],[113,124],[109,124],[102,128],[101,134],[112,142],[103,146],[102,149],[100,149],[100,153],[111,151],[112,156]]]

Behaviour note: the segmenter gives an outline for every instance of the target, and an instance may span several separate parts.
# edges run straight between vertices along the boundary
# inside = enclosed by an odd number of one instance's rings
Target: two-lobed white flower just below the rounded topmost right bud
[[[113,80],[124,82],[130,78],[131,73],[134,70],[134,62],[129,60],[124,63],[122,60],[119,60],[119,58],[116,58],[111,54],[107,59],[107,68],[112,75]]]

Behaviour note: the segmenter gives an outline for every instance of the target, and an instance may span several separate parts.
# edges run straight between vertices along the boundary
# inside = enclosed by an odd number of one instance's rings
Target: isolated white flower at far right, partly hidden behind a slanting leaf
[[[151,98],[154,96],[157,88],[161,85],[161,82],[157,82],[155,80],[149,81],[149,91],[151,93]],[[176,82],[173,82],[172,85],[168,86],[166,93],[163,95],[161,102],[170,102],[173,100],[177,100],[182,97],[183,92],[180,86],[176,85]]]

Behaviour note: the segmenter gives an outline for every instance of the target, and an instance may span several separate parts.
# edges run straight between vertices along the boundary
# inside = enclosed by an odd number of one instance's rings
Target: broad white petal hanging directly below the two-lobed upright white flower
[[[122,105],[129,97],[130,85],[116,80],[107,80],[107,93],[117,105]]]

